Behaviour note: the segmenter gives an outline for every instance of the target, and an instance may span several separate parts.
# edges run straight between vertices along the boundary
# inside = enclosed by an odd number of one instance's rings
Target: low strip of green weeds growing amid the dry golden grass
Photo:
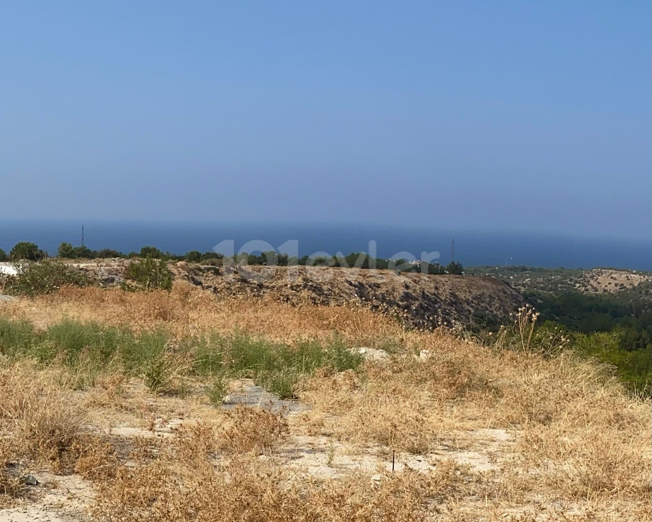
[[[143,378],[156,392],[168,390],[173,376],[206,377],[209,399],[220,403],[226,379],[251,377],[263,388],[287,399],[303,376],[316,369],[355,369],[361,362],[340,339],[304,341],[296,346],[254,338],[246,333],[208,333],[175,341],[163,330],[134,331],[93,322],[63,320],[37,332],[27,321],[0,318],[0,354],[61,361],[72,371],[74,386],[93,386],[107,367],[122,366]]]

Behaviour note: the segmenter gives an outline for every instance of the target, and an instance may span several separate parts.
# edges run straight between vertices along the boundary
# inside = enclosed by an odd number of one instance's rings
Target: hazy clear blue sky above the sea
[[[2,1],[0,219],[649,236],[650,7]]]

